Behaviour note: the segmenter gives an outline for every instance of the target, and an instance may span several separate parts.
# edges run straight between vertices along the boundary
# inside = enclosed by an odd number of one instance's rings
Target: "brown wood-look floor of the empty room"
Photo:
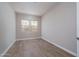
[[[16,41],[4,57],[73,57],[73,55],[43,39],[32,39]]]

